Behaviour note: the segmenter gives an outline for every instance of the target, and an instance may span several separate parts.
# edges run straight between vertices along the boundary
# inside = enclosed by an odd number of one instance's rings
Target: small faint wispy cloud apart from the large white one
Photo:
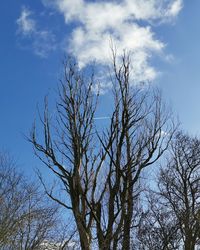
[[[55,36],[49,30],[38,27],[37,21],[33,18],[33,12],[23,7],[20,17],[16,21],[22,48],[28,48],[40,57],[47,57],[48,54],[56,49]],[[29,41],[28,46],[24,45]]]

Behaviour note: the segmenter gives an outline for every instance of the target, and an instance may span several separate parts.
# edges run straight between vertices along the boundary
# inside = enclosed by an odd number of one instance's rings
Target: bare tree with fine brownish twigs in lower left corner
[[[36,249],[53,237],[58,206],[28,182],[8,154],[0,154],[0,248]]]

